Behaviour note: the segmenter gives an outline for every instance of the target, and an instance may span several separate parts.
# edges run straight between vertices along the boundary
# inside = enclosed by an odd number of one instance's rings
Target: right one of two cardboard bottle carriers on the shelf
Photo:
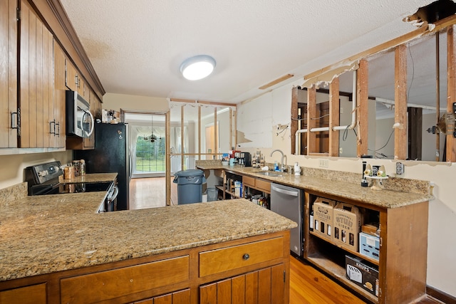
[[[333,209],[333,243],[358,252],[358,237],[363,216],[358,207],[338,203]]]

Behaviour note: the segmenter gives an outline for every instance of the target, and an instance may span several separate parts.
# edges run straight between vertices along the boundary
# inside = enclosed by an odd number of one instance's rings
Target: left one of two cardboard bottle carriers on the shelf
[[[336,201],[317,197],[314,206],[314,234],[333,241],[333,209]]]

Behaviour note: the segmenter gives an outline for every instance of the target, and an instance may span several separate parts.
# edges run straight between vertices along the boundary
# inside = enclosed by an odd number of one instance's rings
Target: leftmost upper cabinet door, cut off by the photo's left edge
[[[17,147],[16,0],[0,1],[0,148]]]

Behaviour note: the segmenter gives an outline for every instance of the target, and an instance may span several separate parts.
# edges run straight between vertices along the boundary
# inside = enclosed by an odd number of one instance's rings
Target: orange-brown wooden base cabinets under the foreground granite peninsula
[[[0,303],[289,303],[289,231],[0,282]],[[245,255],[249,257],[246,258]],[[219,286],[213,301],[212,286]],[[229,290],[226,291],[225,290]],[[27,298],[28,295],[28,298]],[[11,300],[12,299],[12,300]],[[204,300],[207,299],[207,300]]]

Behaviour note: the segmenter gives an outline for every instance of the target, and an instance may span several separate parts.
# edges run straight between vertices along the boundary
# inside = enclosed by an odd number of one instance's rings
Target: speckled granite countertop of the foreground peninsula
[[[16,193],[0,190],[1,199],[2,192]],[[8,199],[0,215],[0,281],[296,227],[245,199],[95,214],[104,195],[26,196],[25,188]]]

